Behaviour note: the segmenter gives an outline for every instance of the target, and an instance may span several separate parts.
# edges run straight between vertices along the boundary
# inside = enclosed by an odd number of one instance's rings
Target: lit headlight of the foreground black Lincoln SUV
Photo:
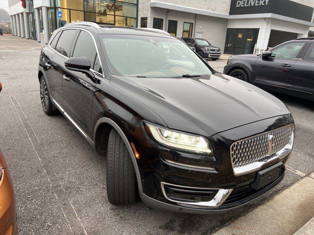
[[[211,145],[204,137],[170,131],[148,123],[146,125],[154,139],[163,145],[193,153],[212,154]]]

